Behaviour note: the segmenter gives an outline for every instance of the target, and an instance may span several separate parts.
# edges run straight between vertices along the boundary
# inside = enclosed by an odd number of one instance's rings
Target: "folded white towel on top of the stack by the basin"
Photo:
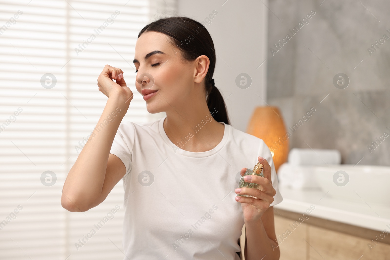
[[[339,150],[293,148],[289,152],[288,162],[293,166],[340,164],[341,155]]]

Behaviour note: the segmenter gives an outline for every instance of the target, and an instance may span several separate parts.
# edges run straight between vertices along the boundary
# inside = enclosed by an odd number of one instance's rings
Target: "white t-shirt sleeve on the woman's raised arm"
[[[135,140],[135,129],[131,122],[122,122],[115,134],[111,145],[110,154],[113,154],[123,162],[126,167],[126,176],[131,171],[133,145]]]

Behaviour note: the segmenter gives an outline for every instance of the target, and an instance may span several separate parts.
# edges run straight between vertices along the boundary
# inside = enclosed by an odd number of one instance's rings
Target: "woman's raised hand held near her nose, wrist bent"
[[[121,69],[105,65],[97,78],[97,85],[99,86],[99,91],[108,98],[112,95],[120,95],[124,96],[126,102],[133,99],[133,92],[126,86]]]

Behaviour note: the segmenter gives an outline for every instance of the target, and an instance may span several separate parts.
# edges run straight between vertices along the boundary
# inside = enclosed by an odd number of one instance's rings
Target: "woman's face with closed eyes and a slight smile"
[[[194,62],[183,62],[181,49],[172,46],[168,39],[159,32],[145,32],[135,45],[135,85],[144,96],[149,113],[184,108],[193,96]]]

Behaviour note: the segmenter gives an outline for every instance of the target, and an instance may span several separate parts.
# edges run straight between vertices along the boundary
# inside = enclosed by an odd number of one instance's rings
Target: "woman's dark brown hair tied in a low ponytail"
[[[142,28],[138,38],[144,32],[161,32],[168,35],[172,40],[172,44],[181,49],[181,57],[184,60],[195,60],[200,55],[206,55],[209,58],[209,70],[205,77],[207,106],[217,122],[230,124],[222,95],[218,88],[210,82],[213,78],[216,57],[214,43],[207,29],[201,23],[191,18],[173,16],[149,23]]]

